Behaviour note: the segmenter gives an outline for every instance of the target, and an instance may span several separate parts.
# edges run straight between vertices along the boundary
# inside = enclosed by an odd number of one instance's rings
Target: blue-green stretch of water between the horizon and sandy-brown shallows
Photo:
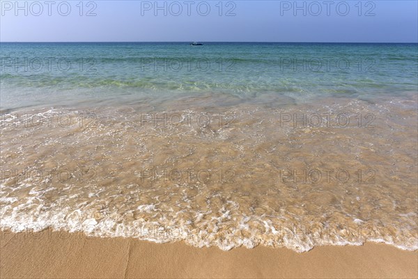
[[[187,96],[235,103],[416,92],[417,44],[1,43],[1,110]]]

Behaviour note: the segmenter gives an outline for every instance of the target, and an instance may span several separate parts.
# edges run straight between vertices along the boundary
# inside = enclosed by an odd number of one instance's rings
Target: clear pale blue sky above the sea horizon
[[[1,42],[418,43],[418,1],[0,1]]]

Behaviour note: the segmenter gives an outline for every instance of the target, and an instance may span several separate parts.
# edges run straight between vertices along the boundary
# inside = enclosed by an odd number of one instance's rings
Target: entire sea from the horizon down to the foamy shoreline
[[[418,45],[0,43],[0,226],[418,249]]]

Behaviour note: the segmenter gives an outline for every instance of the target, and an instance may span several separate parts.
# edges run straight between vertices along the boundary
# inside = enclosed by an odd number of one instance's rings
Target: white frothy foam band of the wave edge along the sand
[[[2,229],[10,229],[13,232],[26,230],[40,232],[43,229],[52,228],[68,232],[84,232],[88,236],[132,237],[155,243],[185,241],[196,247],[216,246],[222,250],[231,250],[240,246],[254,248],[262,245],[306,252],[315,246],[359,246],[366,241],[387,243],[403,250],[418,249],[417,239],[412,236],[406,239],[405,236],[380,235],[378,232],[377,236],[359,238],[348,236],[348,231],[343,228],[332,234],[324,234],[324,232],[331,232],[327,231],[324,224],[313,224],[313,226],[322,227],[321,231],[304,233],[304,227],[297,227],[300,224],[273,225],[270,218],[261,216],[242,216],[238,223],[233,223],[230,222],[230,212],[224,209],[222,210],[224,213],[218,218],[212,218],[205,226],[199,227],[184,219],[168,220],[163,216],[160,222],[146,221],[143,218],[125,220],[123,223],[110,217],[96,220],[92,212],[81,209],[56,207],[49,211],[42,211],[42,204],[31,207],[33,199],[28,199],[26,204],[12,207],[11,204],[16,201],[17,199],[14,198],[3,197],[1,199],[1,202],[6,204],[0,211]],[[29,207],[31,211],[22,213]],[[157,212],[153,204],[143,204],[138,206],[138,209],[146,213]],[[196,213],[194,221],[199,223],[203,216],[203,213]],[[226,222],[223,223],[223,221]],[[254,223],[258,225],[254,226]],[[332,227],[332,229],[336,228],[337,226]]]

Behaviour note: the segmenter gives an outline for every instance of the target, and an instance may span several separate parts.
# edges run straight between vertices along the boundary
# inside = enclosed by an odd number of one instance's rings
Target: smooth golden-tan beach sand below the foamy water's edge
[[[418,251],[378,243],[286,248],[194,248],[82,233],[1,232],[1,278],[417,278]]]

